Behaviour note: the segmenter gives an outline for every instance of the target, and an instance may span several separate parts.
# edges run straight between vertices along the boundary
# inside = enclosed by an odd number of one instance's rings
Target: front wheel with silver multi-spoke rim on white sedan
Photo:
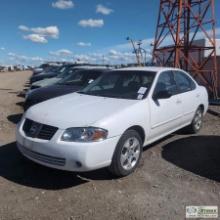
[[[142,150],[140,135],[134,130],[126,131],[116,146],[109,171],[117,177],[128,176],[138,166]]]

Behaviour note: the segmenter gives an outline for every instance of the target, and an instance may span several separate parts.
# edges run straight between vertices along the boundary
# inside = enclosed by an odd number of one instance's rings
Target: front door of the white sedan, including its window
[[[168,92],[171,97],[155,99],[159,92]],[[180,96],[172,71],[160,74],[150,102],[150,139],[158,139],[181,125],[182,109]]]

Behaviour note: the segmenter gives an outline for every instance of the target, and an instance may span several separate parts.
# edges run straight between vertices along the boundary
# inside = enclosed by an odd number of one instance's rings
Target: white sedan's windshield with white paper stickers
[[[103,74],[80,94],[141,100],[147,96],[156,73],[150,71],[113,71]]]

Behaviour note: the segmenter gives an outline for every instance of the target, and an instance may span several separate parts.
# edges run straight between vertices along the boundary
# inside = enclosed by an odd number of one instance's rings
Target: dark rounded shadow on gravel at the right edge
[[[220,182],[220,136],[192,136],[163,147],[162,157],[196,175]]]

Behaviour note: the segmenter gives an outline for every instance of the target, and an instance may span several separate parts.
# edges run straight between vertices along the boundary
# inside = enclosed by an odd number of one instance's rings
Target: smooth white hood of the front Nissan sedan
[[[25,113],[25,117],[60,129],[92,126],[95,122],[123,111],[137,102],[138,100],[74,93],[34,105]]]

